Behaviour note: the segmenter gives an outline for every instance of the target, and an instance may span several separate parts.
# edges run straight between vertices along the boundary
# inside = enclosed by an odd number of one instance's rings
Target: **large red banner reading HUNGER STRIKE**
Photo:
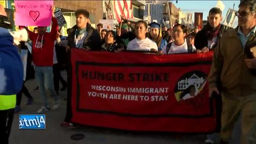
[[[73,49],[72,122],[135,131],[210,132],[212,52],[153,55]]]

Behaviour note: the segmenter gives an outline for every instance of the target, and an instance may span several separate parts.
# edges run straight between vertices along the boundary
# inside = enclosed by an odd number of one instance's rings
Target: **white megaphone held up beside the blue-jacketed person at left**
[[[27,42],[28,41],[28,32],[25,28],[19,30],[19,31],[12,31],[10,34],[13,37],[13,43],[15,45],[19,45],[20,42]]]

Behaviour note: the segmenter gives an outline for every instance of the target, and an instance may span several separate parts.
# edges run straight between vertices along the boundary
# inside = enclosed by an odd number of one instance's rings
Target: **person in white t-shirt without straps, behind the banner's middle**
[[[146,37],[147,23],[145,21],[138,21],[135,25],[135,35],[131,42],[127,45],[127,51],[154,51],[158,50],[158,47],[154,41]]]

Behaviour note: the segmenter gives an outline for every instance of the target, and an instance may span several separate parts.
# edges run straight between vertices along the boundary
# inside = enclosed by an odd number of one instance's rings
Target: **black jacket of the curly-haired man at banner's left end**
[[[68,35],[68,46],[76,47],[75,45],[75,30],[77,26],[75,25],[70,29],[70,34]],[[97,30],[91,27],[89,23],[86,26],[87,36],[84,39],[83,47],[89,47],[91,51],[100,51],[101,50],[101,38]]]

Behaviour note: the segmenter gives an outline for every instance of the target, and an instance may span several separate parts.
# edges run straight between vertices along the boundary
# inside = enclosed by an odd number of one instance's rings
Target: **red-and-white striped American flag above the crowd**
[[[114,15],[118,22],[121,22],[120,15],[122,14],[124,16],[124,19],[129,19],[133,17],[132,1],[114,1]]]

